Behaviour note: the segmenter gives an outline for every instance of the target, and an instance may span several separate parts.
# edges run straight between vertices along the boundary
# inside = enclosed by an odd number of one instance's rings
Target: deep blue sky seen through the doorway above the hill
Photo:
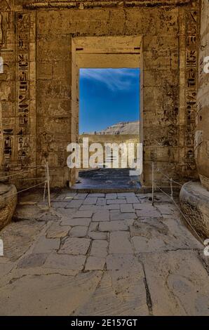
[[[139,119],[139,69],[80,69],[79,83],[80,133]]]

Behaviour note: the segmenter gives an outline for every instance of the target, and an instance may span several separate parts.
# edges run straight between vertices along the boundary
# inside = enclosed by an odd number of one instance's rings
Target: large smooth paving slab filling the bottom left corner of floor
[[[72,315],[90,301],[101,271],[27,275],[14,279],[0,289],[0,314],[3,315]]]

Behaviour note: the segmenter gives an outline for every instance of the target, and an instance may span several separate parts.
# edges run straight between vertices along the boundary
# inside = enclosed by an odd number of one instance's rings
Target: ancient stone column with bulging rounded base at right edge
[[[180,204],[202,238],[209,237],[209,2],[201,1],[195,157],[200,181],[185,183]]]

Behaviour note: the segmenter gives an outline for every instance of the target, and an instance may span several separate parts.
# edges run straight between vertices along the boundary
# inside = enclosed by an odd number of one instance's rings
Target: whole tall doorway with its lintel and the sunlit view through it
[[[72,132],[74,141],[83,147],[81,168],[76,169],[72,189],[140,188],[137,172],[130,171],[141,141],[140,44],[140,37],[74,38],[72,117],[76,126],[72,126]],[[132,163],[129,145],[133,148]],[[86,149],[87,163],[83,161]]]

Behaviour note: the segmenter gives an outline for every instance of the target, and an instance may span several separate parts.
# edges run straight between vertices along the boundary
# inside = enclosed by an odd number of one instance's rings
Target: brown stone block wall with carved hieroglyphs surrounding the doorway
[[[0,7],[9,41],[1,41],[8,72],[0,74],[3,168],[47,159],[53,186],[72,180],[72,38],[135,35],[142,37],[143,183],[150,184],[151,161],[175,179],[194,178],[198,1],[29,2]]]

